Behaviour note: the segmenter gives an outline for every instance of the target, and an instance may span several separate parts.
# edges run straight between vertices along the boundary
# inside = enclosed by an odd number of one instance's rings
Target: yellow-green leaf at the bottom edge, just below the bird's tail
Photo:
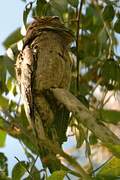
[[[47,178],[47,180],[63,180],[66,174],[67,172],[63,170],[55,171],[50,177]]]

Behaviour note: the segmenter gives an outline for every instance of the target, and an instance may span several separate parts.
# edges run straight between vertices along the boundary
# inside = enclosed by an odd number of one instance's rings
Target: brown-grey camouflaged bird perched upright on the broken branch
[[[50,88],[69,88],[71,32],[58,17],[36,17],[29,25],[23,50],[16,61],[26,116],[38,138],[52,136],[55,129],[60,144],[64,141],[69,113],[50,94]],[[64,134],[64,135],[63,135]]]

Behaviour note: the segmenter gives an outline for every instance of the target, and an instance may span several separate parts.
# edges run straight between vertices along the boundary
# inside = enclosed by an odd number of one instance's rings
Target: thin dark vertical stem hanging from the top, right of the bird
[[[76,58],[77,58],[77,92],[79,90],[79,25],[80,17],[83,6],[83,0],[80,1],[80,5],[76,8],[76,17],[77,17],[77,32],[76,32]]]

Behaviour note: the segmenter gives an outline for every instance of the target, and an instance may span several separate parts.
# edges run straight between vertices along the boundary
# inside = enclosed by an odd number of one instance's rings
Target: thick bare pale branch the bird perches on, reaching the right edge
[[[90,129],[106,146],[120,145],[120,139],[104,124],[96,122],[96,117],[69,91],[51,89],[55,98],[73,113],[76,119]]]

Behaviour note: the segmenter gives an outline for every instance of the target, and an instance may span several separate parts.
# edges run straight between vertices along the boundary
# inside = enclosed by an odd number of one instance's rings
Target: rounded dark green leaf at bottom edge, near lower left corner
[[[28,165],[25,161],[18,162],[12,170],[12,180],[20,180],[25,174],[26,168],[28,168]]]

